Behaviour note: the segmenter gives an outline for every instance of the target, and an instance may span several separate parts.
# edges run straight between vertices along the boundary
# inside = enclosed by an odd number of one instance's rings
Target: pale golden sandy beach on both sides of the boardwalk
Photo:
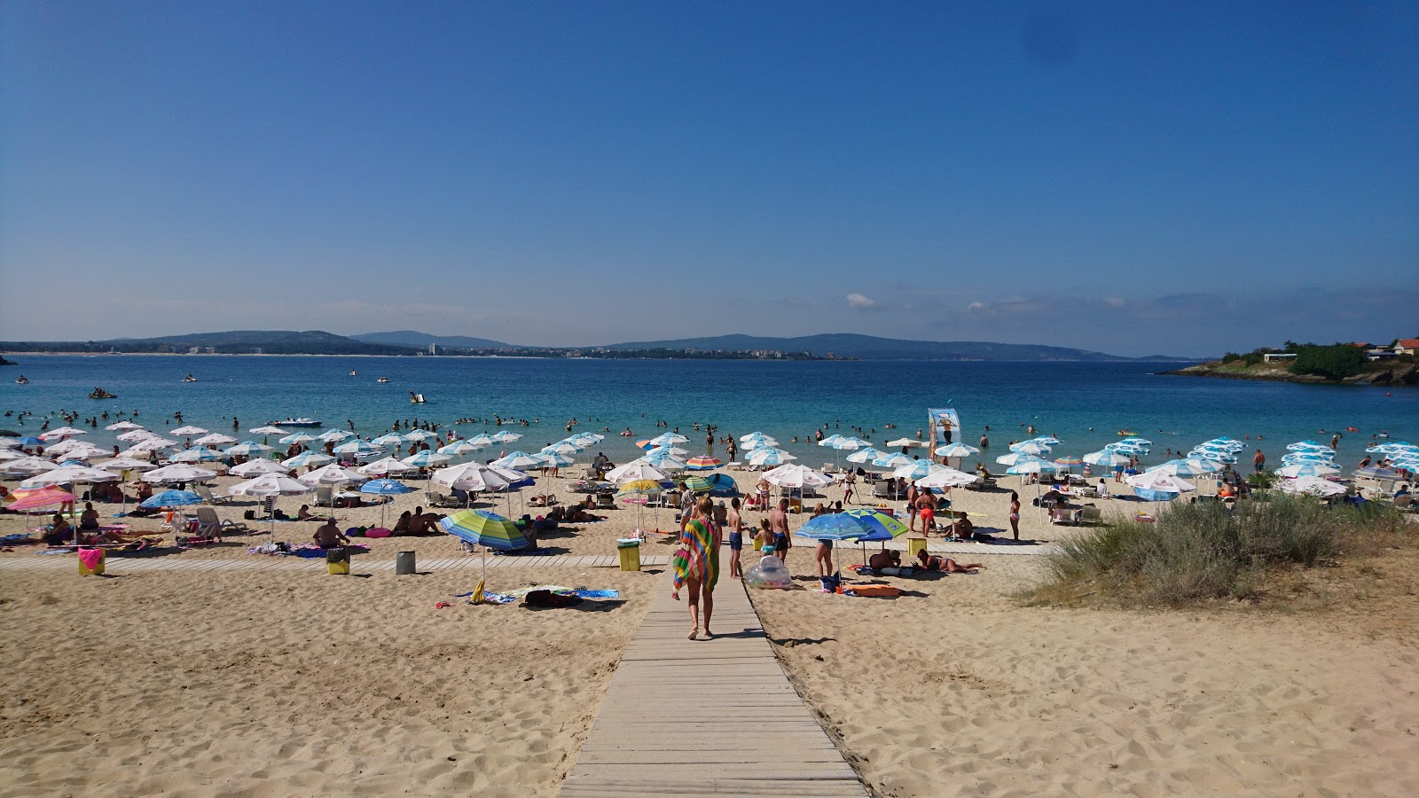
[[[751,487],[752,476],[731,474]],[[219,493],[234,481],[220,479]],[[566,481],[542,486],[568,501]],[[1022,493],[1023,538],[1080,534],[1029,507],[1034,490]],[[1007,496],[956,490],[954,507],[999,530]],[[423,500],[396,497],[387,518]],[[1151,507],[1100,504],[1105,515]],[[240,520],[251,507],[217,511]],[[542,545],[613,554],[636,511],[606,514]],[[375,524],[379,508],[336,515],[342,528]],[[660,525],[670,520],[663,510]],[[267,540],[267,525],[251,524],[260,534],[163,557],[263,558],[247,547]],[[0,534],[23,525],[23,515],[0,515]],[[277,523],[275,537],[301,542],[314,528]],[[478,557],[447,535],[366,542],[355,574],[403,550],[420,561]],[[1317,611],[1120,612],[1023,606],[1015,596],[1039,579],[1043,558],[1022,552],[1040,547],[972,548],[985,571],[887,578],[908,591],[895,601],[817,592],[806,547],[789,555],[805,589],[753,592],[789,677],[874,795],[1419,792],[1412,562],[1374,596]],[[670,550],[658,535],[643,547]],[[0,558],[33,554],[17,547]],[[858,554],[841,548],[839,558]],[[622,603],[586,612],[467,605],[455,596],[473,589],[475,569],[95,579],[6,567],[0,795],[555,795],[620,649],[664,586],[660,571],[490,572],[490,589],[622,591]],[[122,555],[109,572],[123,574]],[[725,575],[721,589],[738,585]]]

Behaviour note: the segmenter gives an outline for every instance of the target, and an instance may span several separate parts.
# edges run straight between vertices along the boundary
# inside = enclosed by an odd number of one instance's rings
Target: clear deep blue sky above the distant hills
[[[1416,3],[0,4],[0,339],[1419,335]]]

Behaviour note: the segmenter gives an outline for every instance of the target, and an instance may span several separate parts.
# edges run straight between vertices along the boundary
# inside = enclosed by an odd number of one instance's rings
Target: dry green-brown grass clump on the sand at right
[[[1026,599],[1122,605],[1186,605],[1259,598],[1283,569],[1369,557],[1410,544],[1415,527],[1391,507],[1325,507],[1310,497],[1273,496],[1222,504],[1174,504],[1158,521],[1124,521],[1060,545],[1049,578]]]

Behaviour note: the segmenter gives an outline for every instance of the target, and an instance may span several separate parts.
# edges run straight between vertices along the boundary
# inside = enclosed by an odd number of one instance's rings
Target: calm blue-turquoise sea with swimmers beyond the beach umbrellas
[[[883,443],[925,427],[929,406],[954,406],[975,444],[990,427],[986,454],[1029,437],[1026,425],[1064,443],[1056,454],[1083,454],[1117,440],[1131,429],[1154,442],[1149,461],[1164,450],[1189,449],[1219,434],[1254,440],[1279,463],[1284,444],[1301,439],[1328,440],[1331,432],[1357,427],[1341,444],[1341,460],[1364,454],[1371,436],[1419,440],[1419,390],[1359,386],[1314,386],[1229,379],[1162,376],[1159,364],[1019,364],[1019,362],[758,362],[758,361],[593,361],[514,358],[353,358],[353,356],[35,356],[0,371],[0,412],[30,410],[38,416],[60,409],[92,417],[104,410],[138,410],[138,422],[165,430],[184,423],[231,433],[236,416],[245,430],[287,416],[322,419],[326,427],[353,420],[359,433],[379,434],[394,419],[450,425],[460,417],[539,419],[514,447],[536,452],[563,437],[576,417],[578,432],[610,427],[602,449],[613,460],[633,452],[634,439],[614,433],[630,427],[636,437],[658,432],[656,419],[691,439],[700,453],[704,433],[692,425],[715,423],[735,436],[763,430],[803,463],[833,460],[832,450],[805,443],[815,427],[850,433],[861,426]],[[355,376],[350,376],[350,371]],[[30,385],[16,385],[20,373]],[[197,382],[184,383],[192,373]],[[387,383],[377,383],[387,376]],[[95,386],[116,400],[94,400]],[[427,398],[412,405],[409,390]],[[595,420],[589,420],[595,419]],[[99,444],[116,433],[105,423],[89,434]],[[14,416],[0,427],[33,433]],[[884,425],[897,429],[884,429]],[[51,422],[51,427],[60,422]],[[495,430],[491,425],[458,425],[463,434]],[[1320,432],[1327,430],[1327,432]],[[797,444],[792,443],[799,436]],[[718,452],[722,456],[722,452]],[[495,452],[492,453],[495,454]]]

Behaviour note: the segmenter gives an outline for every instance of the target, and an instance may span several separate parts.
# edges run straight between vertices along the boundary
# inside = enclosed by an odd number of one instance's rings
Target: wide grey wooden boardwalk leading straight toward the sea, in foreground
[[[668,578],[626,646],[563,798],[866,797],[789,684],[742,582],[715,591],[715,639],[690,640]]]

